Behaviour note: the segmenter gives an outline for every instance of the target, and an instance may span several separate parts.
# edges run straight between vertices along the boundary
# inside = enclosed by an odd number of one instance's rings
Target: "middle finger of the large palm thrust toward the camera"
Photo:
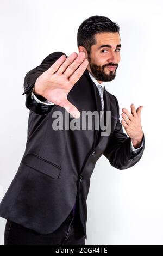
[[[69,78],[74,73],[74,71],[77,70],[77,68],[83,62],[84,59],[85,53],[80,52],[78,57],[67,67],[67,69],[63,73],[66,76],[66,78]]]

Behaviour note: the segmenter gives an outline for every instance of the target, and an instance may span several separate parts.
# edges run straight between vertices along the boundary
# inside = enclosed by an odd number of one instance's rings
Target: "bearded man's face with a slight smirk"
[[[92,45],[87,70],[99,83],[112,81],[116,76],[120,62],[120,35],[118,32],[99,33],[95,35],[96,45]]]

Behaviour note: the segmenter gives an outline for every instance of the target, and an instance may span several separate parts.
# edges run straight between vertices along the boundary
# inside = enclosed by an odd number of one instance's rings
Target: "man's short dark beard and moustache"
[[[99,65],[91,63],[91,58],[89,56],[88,56],[88,59],[89,59],[90,69],[92,71],[92,74],[95,76],[96,80],[103,81],[103,82],[110,82],[113,79],[115,79],[118,64],[115,65],[113,63],[109,63],[104,66],[99,66]],[[109,73],[106,74],[106,72],[104,71],[104,70],[106,70],[105,66],[109,66],[109,65],[116,66],[116,69],[112,70],[112,71],[109,70]]]

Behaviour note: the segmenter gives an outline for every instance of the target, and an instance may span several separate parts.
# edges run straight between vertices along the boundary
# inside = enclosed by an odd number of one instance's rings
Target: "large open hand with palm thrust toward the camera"
[[[62,55],[37,78],[34,93],[42,95],[47,100],[64,107],[73,117],[79,118],[80,112],[67,100],[67,95],[83,75],[88,63],[84,52],[79,54],[73,52],[67,58]]]

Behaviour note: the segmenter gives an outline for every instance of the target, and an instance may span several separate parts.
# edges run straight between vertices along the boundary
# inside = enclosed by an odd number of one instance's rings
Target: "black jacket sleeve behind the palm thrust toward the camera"
[[[49,54],[45,59],[43,59],[39,66],[30,70],[24,78],[24,92],[22,95],[26,95],[25,105],[30,111],[33,111],[35,114],[46,115],[51,111],[52,108],[55,107],[55,104],[45,105],[36,102],[32,97],[32,90],[37,77],[39,77],[43,72],[50,68],[50,66],[63,54],[65,53],[53,52]],[[45,101],[46,99],[40,95],[40,100]]]

